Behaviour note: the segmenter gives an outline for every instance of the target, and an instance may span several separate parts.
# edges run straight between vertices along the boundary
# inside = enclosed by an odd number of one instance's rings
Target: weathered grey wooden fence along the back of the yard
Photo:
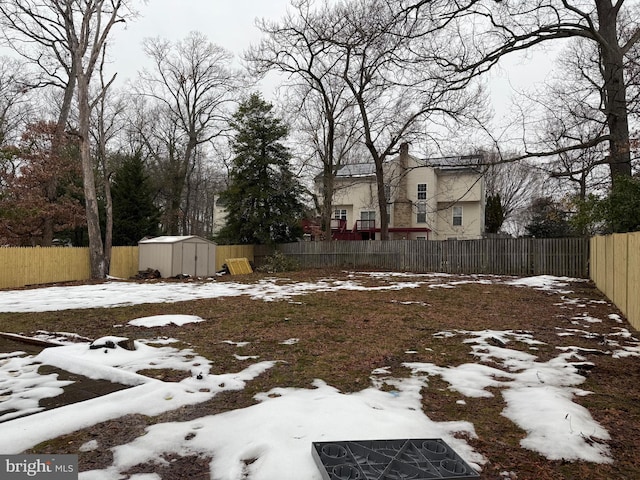
[[[303,268],[589,276],[587,238],[299,242],[279,245],[278,250]]]

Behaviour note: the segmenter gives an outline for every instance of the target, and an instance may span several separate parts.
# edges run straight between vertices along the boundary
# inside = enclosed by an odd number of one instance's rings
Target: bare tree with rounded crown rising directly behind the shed
[[[175,44],[148,39],[144,48],[154,68],[140,74],[139,94],[158,105],[160,114],[175,125],[175,141],[166,149],[167,156],[157,157],[166,162],[166,229],[175,235],[181,228],[184,189],[196,166],[198,147],[228,129],[229,107],[244,82],[231,67],[232,55],[201,33],[193,32]]]

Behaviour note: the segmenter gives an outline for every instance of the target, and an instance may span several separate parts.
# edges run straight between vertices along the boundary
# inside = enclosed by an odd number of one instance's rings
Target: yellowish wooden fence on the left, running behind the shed
[[[226,258],[253,261],[253,245],[216,246],[216,270]],[[138,247],[113,247],[109,275],[130,278],[138,273]],[[89,249],[82,247],[0,248],[0,288],[72,282],[91,278]]]

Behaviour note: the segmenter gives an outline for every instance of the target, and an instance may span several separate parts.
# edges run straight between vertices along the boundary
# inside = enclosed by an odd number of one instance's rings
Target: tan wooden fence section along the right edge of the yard
[[[591,280],[640,330],[640,232],[591,239]]]

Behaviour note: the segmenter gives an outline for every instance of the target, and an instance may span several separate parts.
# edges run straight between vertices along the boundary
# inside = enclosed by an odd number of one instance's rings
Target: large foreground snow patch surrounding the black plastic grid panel
[[[311,442],[354,437],[438,437],[472,465],[484,462],[454,436],[466,433],[475,437],[471,424],[437,423],[424,415],[419,381],[402,383],[397,396],[374,388],[343,394],[320,380],[313,387],[275,388],[256,395],[260,403],[244,409],[191,422],[152,425],[146,435],[113,449],[112,468],[126,471],[162,453],[201,454],[213,458],[211,472],[219,480],[243,476],[252,480],[320,480],[310,455]],[[80,478],[93,478],[93,472]]]

